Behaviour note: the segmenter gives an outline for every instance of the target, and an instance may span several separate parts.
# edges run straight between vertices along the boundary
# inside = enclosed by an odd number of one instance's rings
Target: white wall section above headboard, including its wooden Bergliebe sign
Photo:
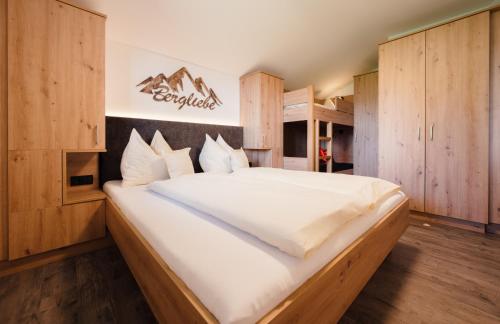
[[[106,115],[239,125],[239,76],[106,42]]]

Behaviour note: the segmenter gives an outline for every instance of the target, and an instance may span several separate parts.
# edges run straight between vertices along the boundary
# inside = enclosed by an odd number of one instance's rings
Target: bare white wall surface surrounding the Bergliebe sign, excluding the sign
[[[202,77],[222,101],[213,110],[155,101],[151,94],[140,92],[137,85],[148,77],[163,73],[167,77],[186,67],[193,78]],[[184,91],[177,95],[203,99],[185,78]],[[204,124],[239,125],[239,77],[204,68],[162,54],[132,47],[119,42],[106,42],[106,115],[194,122]]]

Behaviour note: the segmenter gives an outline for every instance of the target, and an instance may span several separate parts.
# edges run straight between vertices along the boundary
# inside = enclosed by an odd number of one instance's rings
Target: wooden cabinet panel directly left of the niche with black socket
[[[9,151],[9,211],[24,212],[62,203],[61,151]]]

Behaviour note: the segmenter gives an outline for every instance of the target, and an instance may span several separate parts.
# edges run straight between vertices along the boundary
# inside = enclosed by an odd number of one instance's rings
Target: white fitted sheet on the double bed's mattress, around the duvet
[[[109,181],[104,191],[221,323],[257,321],[405,197],[395,193],[299,259],[146,186]]]

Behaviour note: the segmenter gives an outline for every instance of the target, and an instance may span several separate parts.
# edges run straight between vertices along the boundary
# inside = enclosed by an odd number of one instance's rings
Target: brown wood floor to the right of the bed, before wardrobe
[[[498,236],[414,221],[342,322],[499,323],[498,261]]]

